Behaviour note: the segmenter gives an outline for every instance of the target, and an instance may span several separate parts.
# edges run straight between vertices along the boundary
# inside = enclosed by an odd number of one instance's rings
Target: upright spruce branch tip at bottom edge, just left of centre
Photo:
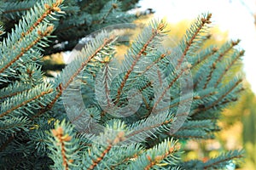
[[[125,133],[130,130],[124,122],[111,120],[104,133],[93,138],[94,143],[83,154],[81,164],[84,169],[124,169],[140,155],[141,144],[125,144]],[[123,145],[125,144],[125,145]]]

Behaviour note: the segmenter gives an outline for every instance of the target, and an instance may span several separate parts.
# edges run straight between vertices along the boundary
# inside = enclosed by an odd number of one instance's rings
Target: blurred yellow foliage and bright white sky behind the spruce
[[[241,39],[239,48],[246,52],[243,64],[233,72],[241,74],[242,71],[245,77],[241,99],[223,111],[218,122],[222,129],[216,133],[216,139],[190,140],[183,144],[186,150],[183,159],[207,161],[224,150],[243,148],[245,159],[238,168],[256,169],[256,0],[140,0],[137,8],[130,12],[142,15],[135,20],[139,24],[165,18],[170,23],[170,38],[174,41],[181,39],[199,14],[212,13],[212,40],[206,46]],[[135,30],[135,34],[137,32],[139,30]],[[68,53],[45,56],[44,71],[49,77],[55,76],[64,68],[67,58]]]

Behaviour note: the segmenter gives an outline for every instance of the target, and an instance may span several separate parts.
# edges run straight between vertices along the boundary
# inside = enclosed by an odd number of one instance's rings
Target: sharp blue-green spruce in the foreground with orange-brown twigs
[[[233,150],[180,159],[181,142],[214,138],[220,112],[242,89],[241,77],[229,74],[244,54],[239,40],[202,48],[212,14],[199,16],[172,48],[161,43],[166,23],[153,20],[120,65],[117,35],[101,31],[44,80],[40,58],[59,50],[53,42],[71,49],[90,31],[132,19],[124,11],[136,2],[1,1],[8,32],[0,44],[1,169],[215,169],[241,158]],[[10,30],[7,20],[19,21]]]

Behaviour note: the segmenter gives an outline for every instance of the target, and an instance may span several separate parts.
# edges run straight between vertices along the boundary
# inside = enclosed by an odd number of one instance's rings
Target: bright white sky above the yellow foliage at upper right
[[[153,8],[154,16],[166,17],[171,23],[195,18],[202,13],[212,13],[212,22],[221,31],[229,31],[229,37],[241,39],[247,81],[256,94],[256,29],[252,12],[256,12],[255,0],[141,0],[142,9]]]

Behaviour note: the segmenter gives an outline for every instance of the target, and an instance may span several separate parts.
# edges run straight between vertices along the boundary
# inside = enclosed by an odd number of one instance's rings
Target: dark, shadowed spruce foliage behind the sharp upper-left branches
[[[3,2],[4,0],[1,1]],[[59,18],[60,20],[52,22],[55,25],[55,31],[52,33],[52,36],[55,38],[51,38],[54,41],[48,43],[49,47],[44,48],[43,53],[55,54],[61,51],[72,50],[79,43],[79,39],[84,37],[84,35],[89,35],[92,31],[109,26],[110,24],[131,22],[135,19],[135,16],[125,14],[124,12],[134,8],[137,2],[138,0],[128,0],[123,3],[117,0],[63,1],[62,4],[65,8],[61,8],[61,10],[66,14],[62,15]],[[37,1],[34,0],[11,0],[4,2],[3,8],[1,8],[3,11],[0,19],[3,21],[6,31],[11,31],[14,24],[18,23],[20,18],[36,4]],[[44,8],[44,5],[41,5],[41,8]],[[34,14],[32,17],[37,18],[39,13]],[[55,17],[54,14],[51,16]]]

